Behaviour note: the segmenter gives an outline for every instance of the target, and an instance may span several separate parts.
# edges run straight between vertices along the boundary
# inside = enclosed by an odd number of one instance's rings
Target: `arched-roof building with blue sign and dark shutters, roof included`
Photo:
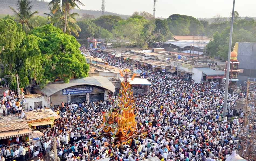
[[[60,105],[62,101],[64,103],[84,100],[104,101],[110,92],[115,92],[115,86],[103,76],[73,79],[69,83],[49,83],[43,89],[36,90],[36,93],[47,96],[47,103],[53,105]]]

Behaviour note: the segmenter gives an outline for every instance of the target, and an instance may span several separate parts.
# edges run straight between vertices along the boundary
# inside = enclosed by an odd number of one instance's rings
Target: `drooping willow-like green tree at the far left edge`
[[[34,35],[25,35],[22,25],[13,20],[0,19],[0,46],[4,46],[1,64],[4,75],[12,75],[9,86],[17,88],[15,74],[19,75],[20,87],[29,85],[30,80],[41,81],[44,70],[42,57]]]

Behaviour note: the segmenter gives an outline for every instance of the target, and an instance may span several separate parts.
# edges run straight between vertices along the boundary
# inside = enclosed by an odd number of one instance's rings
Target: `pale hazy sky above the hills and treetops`
[[[50,1],[50,0],[45,0]],[[101,10],[101,0],[80,0],[81,9]],[[196,18],[229,17],[233,0],[157,0],[156,17],[168,18],[171,14],[185,14]],[[256,0],[236,0],[235,10],[240,16],[256,17]],[[105,10],[131,15],[135,11],[153,14],[153,0],[105,0]]]

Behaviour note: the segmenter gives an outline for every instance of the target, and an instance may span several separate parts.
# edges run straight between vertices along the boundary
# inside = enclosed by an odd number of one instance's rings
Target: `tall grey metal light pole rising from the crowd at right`
[[[230,69],[230,53],[231,53],[233,23],[234,23],[234,9],[235,9],[235,0],[233,1],[233,10],[232,10],[232,18],[231,18],[231,26],[230,26],[229,53],[228,53],[228,57],[227,57],[227,74],[226,74],[226,84],[225,84],[223,117],[225,117],[227,115],[227,94],[229,91],[229,69]]]

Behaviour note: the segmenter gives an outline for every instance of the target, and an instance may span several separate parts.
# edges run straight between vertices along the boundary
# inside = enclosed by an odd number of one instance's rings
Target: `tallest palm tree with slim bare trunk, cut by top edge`
[[[70,17],[70,9],[77,7],[78,9],[79,6],[78,5],[82,5],[84,6],[84,4],[82,2],[80,2],[79,0],[51,0],[51,2],[49,3],[49,5],[53,5],[53,13],[56,12],[59,8],[59,6],[61,5],[63,12],[65,13],[65,22],[64,22],[64,30],[63,32],[66,33],[66,27],[67,27],[67,13],[69,14]]]

